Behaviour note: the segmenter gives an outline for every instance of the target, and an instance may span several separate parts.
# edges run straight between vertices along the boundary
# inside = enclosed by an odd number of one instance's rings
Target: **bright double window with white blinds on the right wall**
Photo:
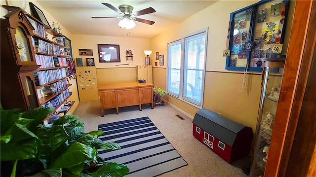
[[[202,106],[207,29],[168,44],[167,92]]]

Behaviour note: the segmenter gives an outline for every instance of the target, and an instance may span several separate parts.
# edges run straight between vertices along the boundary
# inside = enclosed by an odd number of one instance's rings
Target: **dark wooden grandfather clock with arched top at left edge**
[[[33,26],[19,8],[1,19],[1,106],[26,111],[38,107],[33,71]]]

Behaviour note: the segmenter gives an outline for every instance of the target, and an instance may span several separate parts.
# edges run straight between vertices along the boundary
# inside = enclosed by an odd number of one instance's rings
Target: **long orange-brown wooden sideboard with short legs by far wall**
[[[154,85],[151,83],[113,83],[101,84],[98,86],[101,115],[104,116],[104,109],[139,105],[139,110],[142,110],[142,104],[151,104],[154,108]]]

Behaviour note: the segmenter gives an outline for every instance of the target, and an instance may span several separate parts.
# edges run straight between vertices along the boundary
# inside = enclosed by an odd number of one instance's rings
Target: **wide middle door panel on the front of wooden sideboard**
[[[118,106],[139,105],[139,91],[136,89],[118,90]]]

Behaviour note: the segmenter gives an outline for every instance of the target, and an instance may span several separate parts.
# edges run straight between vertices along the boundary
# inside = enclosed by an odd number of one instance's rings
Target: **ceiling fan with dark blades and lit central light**
[[[134,20],[137,22],[146,23],[148,25],[153,25],[155,23],[154,21],[151,21],[151,20],[145,20],[145,19],[136,17],[136,16],[156,12],[156,10],[152,7],[148,7],[148,8],[145,8],[143,10],[133,12],[134,8],[131,5],[122,4],[122,5],[119,5],[118,9],[117,9],[116,7],[114,7],[113,5],[111,5],[109,3],[102,2],[102,4],[111,8],[112,10],[118,12],[119,14],[121,14],[121,16],[118,16],[118,17],[92,17],[92,18],[123,18],[123,19],[127,19],[127,20]]]

